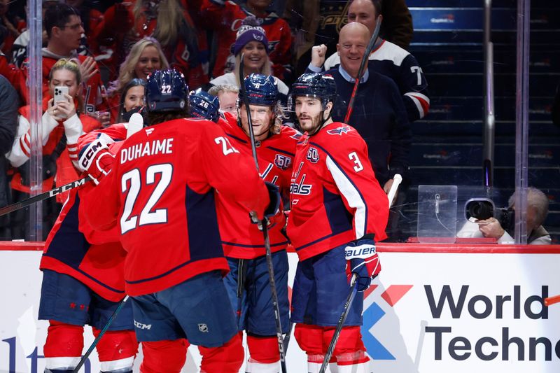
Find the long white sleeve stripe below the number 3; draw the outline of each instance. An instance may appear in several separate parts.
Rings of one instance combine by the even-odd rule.
[[[344,174],[342,169],[334,160],[327,155],[327,169],[330,171],[332,178],[335,180],[338,190],[342,193],[349,206],[356,209],[354,213],[354,229],[356,230],[356,239],[363,237],[366,232],[367,206],[360,192],[353,185],[352,181]]]

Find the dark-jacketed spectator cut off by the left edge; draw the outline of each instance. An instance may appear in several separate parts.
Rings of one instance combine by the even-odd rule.
[[[18,93],[6,78],[0,76],[0,207],[10,201],[8,183],[8,162],[6,156],[13,145],[15,132],[18,129]],[[0,216],[0,240],[11,239],[10,216]]]

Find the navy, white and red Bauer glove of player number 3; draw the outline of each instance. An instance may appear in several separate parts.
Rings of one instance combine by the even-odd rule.
[[[381,263],[375,251],[374,235],[365,234],[364,237],[351,241],[344,248],[344,253],[347,260],[346,272],[358,276],[358,291],[369,288],[372,278],[381,271]]]

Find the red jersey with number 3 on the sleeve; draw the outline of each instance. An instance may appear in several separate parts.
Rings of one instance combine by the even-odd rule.
[[[300,260],[364,234],[386,238],[388,199],[367,146],[349,125],[332,122],[297,144],[288,237]]]

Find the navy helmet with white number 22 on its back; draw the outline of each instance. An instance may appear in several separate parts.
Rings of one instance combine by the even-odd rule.
[[[146,83],[146,106],[150,112],[183,111],[188,101],[185,77],[174,69],[156,70]]]

